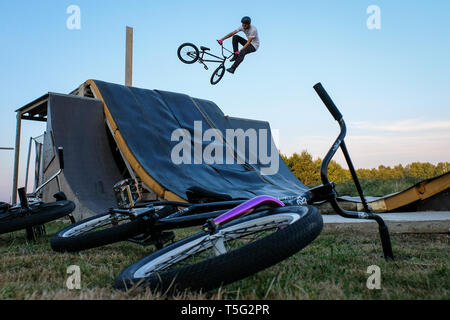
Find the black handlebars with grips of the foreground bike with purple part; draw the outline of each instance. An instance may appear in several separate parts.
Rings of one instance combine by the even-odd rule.
[[[361,188],[361,184],[359,183],[358,176],[356,174],[356,170],[353,166],[352,160],[350,158],[350,154],[348,152],[347,146],[345,145],[344,138],[347,134],[347,128],[344,122],[344,118],[339,111],[339,109],[334,104],[333,100],[330,98],[328,93],[325,91],[321,83],[318,83],[314,86],[314,89],[316,90],[317,94],[319,95],[322,102],[325,104],[327,109],[330,111],[330,113],[333,115],[334,119],[339,123],[339,126],[341,128],[341,132],[334,142],[331,149],[328,151],[327,155],[322,161],[322,165],[320,168],[320,176],[322,179],[322,183],[327,186],[331,185],[334,188],[334,184],[330,183],[328,179],[328,164],[330,163],[331,159],[336,154],[336,151],[338,148],[341,148],[345,160],[348,164],[350,173],[352,175],[353,181],[355,183],[356,189],[358,190],[359,197],[361,198],[361,202],[364,207],[365,212],[353,212],[353,211],[346,211],[342,209],[337,200],[336,200],[336,193],[334,192],[334,195],[330,197],[328,200],[333,207],[333,209],[342,217],[344,218],[353,218],[353,219],[369,219],[369,220],[375,220],[378,223],[378,229],[379,234],[381,238],[381,245],[383,247],[383,254],[385,259],[392,259],[394,260],[394,253],[392,252],[392,245],[391,245],[391,239],[389,236],[389,230],[386,226],[386,223],[384,220],[379,216],[374,214],[371,209],[369,208],[369,205],[366,201],[366,198],[364,197],[363,190]]]

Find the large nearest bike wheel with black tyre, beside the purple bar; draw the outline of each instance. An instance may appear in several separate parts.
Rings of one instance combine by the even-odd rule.
[[[135,285],[153,291],[208,291],[295,254],[322,231],[319,211],[310,206],[265,210],[180,240],[123,270],[115,288]]]

